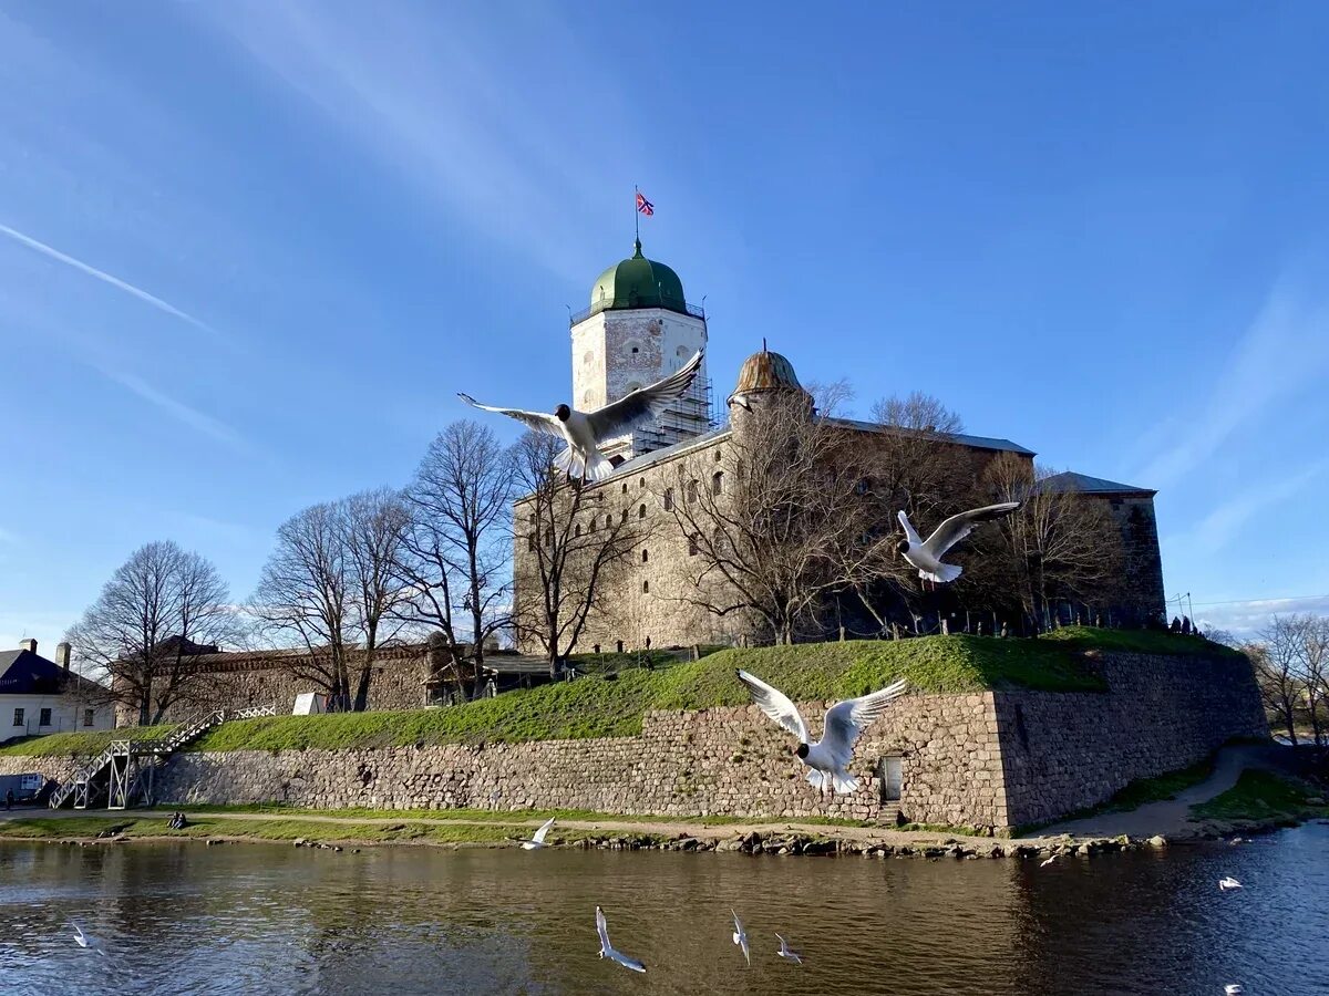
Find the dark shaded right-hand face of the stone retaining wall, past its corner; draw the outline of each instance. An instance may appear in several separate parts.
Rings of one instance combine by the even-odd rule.
[[[995,695],[1011,826],[1096,805],[1235,737],[1269,736],[1245,657],[1111,655],[1096,668],[1111,693]]]

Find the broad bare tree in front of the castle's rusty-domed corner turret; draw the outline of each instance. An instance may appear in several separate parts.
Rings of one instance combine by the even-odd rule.
[[[788,390],[742,413],[720,463],[711,450],[679,459],[661,495],[694,558],[678,598],[760,619],[777,643],[820,631],[827,602],[878,576],[890,547],[863,498],[860,453],[856,433]]]

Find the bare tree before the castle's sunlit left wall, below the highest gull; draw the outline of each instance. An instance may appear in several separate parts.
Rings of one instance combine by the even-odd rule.
[[[518,499],[514,542],[525,547],[514,576],[514,624],[520,639],[536,640],[557,673],[586,622],[606,606],[606,591],[650,537],[650,519],[618,507],[597,489],[569,482],[553,467],[563,444],[526,433],[513,446]]]

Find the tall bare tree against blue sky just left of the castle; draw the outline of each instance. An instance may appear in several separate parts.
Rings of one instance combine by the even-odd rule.
[[[472,687],[485,640],[508,624],[512,490],[512,453],[488,426],[464,420],[429,444],[404,495],[412,523],[399,570],[415,595],[403,614],[440,631],[455,659],[462,656],[457,633],[466,631]]]

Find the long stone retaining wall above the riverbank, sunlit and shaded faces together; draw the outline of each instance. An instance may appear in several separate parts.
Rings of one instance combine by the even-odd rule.
[[[1136,778],[1188,766],[1235,737],[1268,736],[1239,657],[1103,655],[1108,692],[910,695],[855,752],[857,793],[821,798],[792,738],[756,706],[650,713],[639,737],[364,750],[177,754],[163,802],[338,809],[589,809],[680,817],[898,818],[990,829],[1042,823]],[[801,706],[820,730],[824,703]],[[900,757],[898,803],[877,765]],[[68,758],[0,757],[0,773],[65,778]]]

